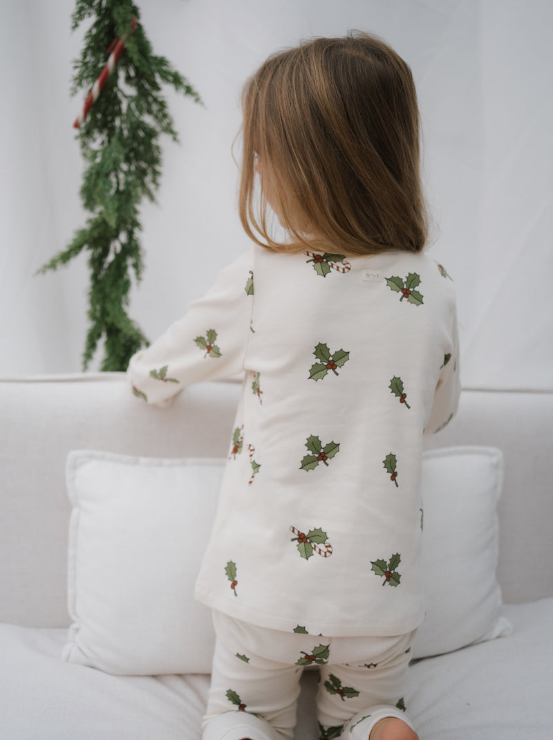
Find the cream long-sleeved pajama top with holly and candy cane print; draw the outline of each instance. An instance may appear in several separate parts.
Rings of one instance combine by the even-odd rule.
[[[254,246],[128,374],[163,406],[242,371],[197,599],[288,632],[413,630],[423,432],[449,421],[460,388],[451,278],[425,252]]]

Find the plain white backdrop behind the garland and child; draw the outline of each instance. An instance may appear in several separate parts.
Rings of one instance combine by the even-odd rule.
[[[231,144],[245,78],[310,36],[379,33],[413,69],[432,253],[455,278],[464,386],[553,388],[553,3],[549,0],[138,0],[155,53],[205,107],[174,95],[146,273],[131,315],[151,339],[245,249]],[[81,368],[86,256],[33,273],[84,224],[69,98],[84,29],[73,0],[0,4],[0,374]],[[98,366],[96,362],[91,369]]]

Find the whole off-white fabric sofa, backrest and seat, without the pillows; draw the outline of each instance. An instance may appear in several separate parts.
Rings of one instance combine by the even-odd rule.
[[[224,459],[238,387],[190,386],[157,409],[133,398],[121,374],[0,382],[0,739],[199,739],[206,673],[121,676],[61,659],[65,465],[75,449]],[[553,738],[552,443],[553,393],[494,389],[465,389],[458,416],[427,442],[503,451],[497,574],[512,633],[413,661],[404,700],[421,740]],[[489,576],[474,571],[475,586]],[[186,639],[180,649],[194,653]],[[319,736],[316,678],[302,678],[299,740]]]

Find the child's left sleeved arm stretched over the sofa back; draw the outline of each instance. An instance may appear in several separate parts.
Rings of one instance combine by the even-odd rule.
[[[242,371],[251,334],[251,262],[251,253],[243,255],[220,272],[182,319],[131,357],[127,376],[135,395],[167,406],[189,383]]]

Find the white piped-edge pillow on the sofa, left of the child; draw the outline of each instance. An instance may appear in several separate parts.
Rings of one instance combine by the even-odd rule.
[[[224,465],[69,453],[65,660],[116,675],[211,671],[211,613],[194,582]]]

